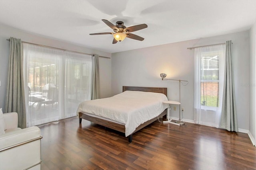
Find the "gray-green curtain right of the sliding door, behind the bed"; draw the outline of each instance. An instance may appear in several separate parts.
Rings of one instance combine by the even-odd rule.
[[[94,55],[92,71],[92,100],[100,98],[99,55]]]

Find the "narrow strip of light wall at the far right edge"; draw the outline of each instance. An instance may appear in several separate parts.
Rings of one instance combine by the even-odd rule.
[[[250,29],[251,39],[251,69],[250,69],[250,135],[252,141],[256,144],[256,22]]]

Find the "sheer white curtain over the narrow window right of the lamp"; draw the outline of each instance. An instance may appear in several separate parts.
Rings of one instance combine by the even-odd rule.
[[[224,83],[225,45],[195,48],[194,121],[219,127]]]

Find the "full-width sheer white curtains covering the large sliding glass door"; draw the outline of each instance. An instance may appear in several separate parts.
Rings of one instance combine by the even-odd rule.
[[[90,100],[90,55],[28,43],[23,53],[27,127],[75,116],[78,104]]]

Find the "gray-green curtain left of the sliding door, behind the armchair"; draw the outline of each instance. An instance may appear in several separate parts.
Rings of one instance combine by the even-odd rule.
[[[4,112],[17,112],[18,127],[26,128],[22,42],[20,39],[13,37],[10,37],[10,57]]]

